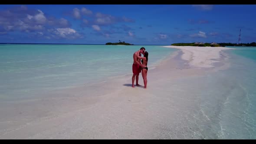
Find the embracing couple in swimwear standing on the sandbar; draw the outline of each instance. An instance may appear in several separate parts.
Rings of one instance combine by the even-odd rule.
[[[148,74],[148,52],[145,51],[146,49],[142,47],[140,50],[136,51],[133,54],[133,65],[132,65],[132,87],[134,88],[134,81],[136,78],[136,85],[138,84],[139,80],[139,74],[142,73],[142,78],[144,80],[144,88],[147,88],[147,74]],[[141,57],[141,54],[143,54],[144,57]],[[141,72],[142,71],[142,72]]]

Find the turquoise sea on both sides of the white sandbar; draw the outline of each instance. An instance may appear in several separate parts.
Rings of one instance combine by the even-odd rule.
[[[34,98],[37,93],[132,73],[132,55],[141,47],[0,45],[0,101]],[[144,47],[149,69],[178,50]],[[184,134],[181,138],[256,139],[256,47],[230,48],[235,49],[224,50],[229,56],[228,69],[188,78],[187,85],[182,80],[169,82],[183,86],[185,91],[178,91],[177,96],[196,102],[189,115],[182,114],[184,123],[177,126],[194,132],[179,129]]]

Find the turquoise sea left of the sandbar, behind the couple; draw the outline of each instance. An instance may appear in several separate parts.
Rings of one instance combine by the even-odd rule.
[[[0,99],[37,96],[132,73],[133,53],[145,47],[149,69],[177,49],[162,46],[60,44],[0,45]]]

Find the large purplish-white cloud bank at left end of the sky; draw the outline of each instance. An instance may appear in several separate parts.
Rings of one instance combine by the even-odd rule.
[[[56,28],[68,28],[70,23],[68,20],[61,18],[56,19],[54,16],[46,16],[42,10],[28,10],[26,6],[17,7],[10,10],[0,10],[0,28],[7,32],[21,31],[21,32],[33,32],[37,36],[56,36],[65,37],[69,32],[63,32],[63,29]],[[54,29],[49,32],[46,30]],[[33,35],[32,34],[32,35]],[[58,34],[58,35],[57,35]],[[75,32],[71,37],[79,37],[80,35]]]

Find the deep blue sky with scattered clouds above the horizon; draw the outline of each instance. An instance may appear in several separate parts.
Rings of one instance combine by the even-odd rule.
[[[0,5],[0,43],[256,42],[256,5]]]

